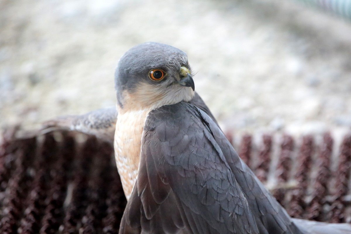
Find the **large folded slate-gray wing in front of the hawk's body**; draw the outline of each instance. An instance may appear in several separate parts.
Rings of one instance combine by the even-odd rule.
[[[217,124],[185,102],[145,123],[120,233],[302,233]]]

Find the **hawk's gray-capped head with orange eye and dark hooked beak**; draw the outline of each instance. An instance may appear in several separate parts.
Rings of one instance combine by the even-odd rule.
[[[186,54],[155,42],[134,46],[122,56],[115,88],[120,111],[190,101],[195,94]]]

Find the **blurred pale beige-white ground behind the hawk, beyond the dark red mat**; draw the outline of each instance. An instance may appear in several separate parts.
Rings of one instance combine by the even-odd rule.
[[[0,126],[33,129],[59,115],[115,105],[118,59],[157,41],[188,54],[196,91],[224,129],[348,131],[350,5],[0,0]]]

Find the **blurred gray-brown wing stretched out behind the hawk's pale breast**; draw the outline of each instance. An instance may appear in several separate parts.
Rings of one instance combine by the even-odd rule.
[[[96,135],[113,142],[117,120],[115,107],[98,109],[84,115],[62,116],[42,123],[43,129],[67,129]]]

